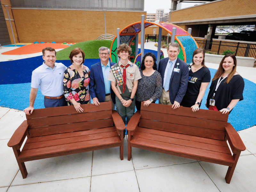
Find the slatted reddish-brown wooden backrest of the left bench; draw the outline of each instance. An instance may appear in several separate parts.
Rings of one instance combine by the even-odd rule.
[[[84,131],[113,126],[111,102],[81,105],[78,113],[73,105],[35,109],[27,117],[29,137]]]

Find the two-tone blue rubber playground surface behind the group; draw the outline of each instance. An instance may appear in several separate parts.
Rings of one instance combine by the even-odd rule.
[[[151,52],[156,54],[156,51]],[[84,64],[90,68],[92,64],[99,61],[100,59],[86,59]],[[42,62],[42,56],[1,62],[0,75],[2,78],[0,80],[0,106],[19,110],[28,107],[29,93],[31,89],[31,74],[35,68],[42,65]],[[71,65],[70,60],[58,60],[57,62],[61,62],[67,67]],[[211,77],[213,77],[216,70],[209,69]],[[247,129],[256,124],[256,84],[247,79],[244,79],[244,83],[244,100],[239,101],[236,104],[228,117],[228,122],[233,125],[236,131]],[[209,92],[210,84],[208,85],[202,100],[202,109],[207,109],[204,103]],[[158,103],[158,101],[156,101],[156,103]],[[42,95],[40,88],[38,89],[34,108],[44,108],[44,96]]]

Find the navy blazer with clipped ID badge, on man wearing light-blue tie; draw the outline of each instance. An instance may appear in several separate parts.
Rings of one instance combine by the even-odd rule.
[[[165,72],[168,60],[169,60],[169,57],[161,59],[158,65],[157,71],[161,74],[163,79],[162,86],[164,84],[164,72]],[[169,96],[172,104],[174,103],[174,101],[181,103],[187,91],[187,86],[188,86],[188,64],[185,63],[180,58],[177,58],[174,68],[177,68],[177,63],[180,64],[178,66],[178,69],[180,69],[180,72],[178,73],[178,72],[172,71],[172,76],[169,84]]]

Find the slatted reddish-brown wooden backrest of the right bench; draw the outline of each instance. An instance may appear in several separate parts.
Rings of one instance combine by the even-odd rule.
[[[225,126],[228,113],[151,103],[148,107],[141,103],[140,127],[146,127],[193,136],[225,140]]]

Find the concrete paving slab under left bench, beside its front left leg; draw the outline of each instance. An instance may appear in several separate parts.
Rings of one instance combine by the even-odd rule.
[[[12,185],[88,177],[92,173],[92,151],[29,161],[25,165],[27,178],[23,179],[19,171]]]

